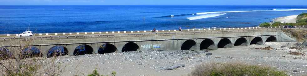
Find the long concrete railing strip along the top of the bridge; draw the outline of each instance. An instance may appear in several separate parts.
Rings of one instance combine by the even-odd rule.
[[[257,28],[257,27],[256,27]],[[186,31],[170,31],[170,32],[157,32],[157,33],[147,33],[138,31],[139,33],[114,33],[111,34],[102,33],[96,34],[95,32],[92,32],[91,34],[87,34],[86,32],[84,34],[80,33],[69,33],[66,35],[66,33],[63,33],[63,35],[41,35],[41,36],[33,36],[33,37],[0,37],[0,41],[26,41],[26,40],[54,40],[54,39],[79,39],[79,38],[118,38],[118,37],[145,37],[145,36],[168,36],[168,35],[193,35],[193,34],[230,34],[230,33],[248,33],[248,32],[272,32],[272,31],[282,31],[282,30],[306,30],[307,28],[263,28],[263,29],[252,29],[252,28],[233,28],[233,29],[221,29],[221,30],[186,30]],[[258,27],[260,28],[260,27]],[[229,30],[230,29],[230,30]]]

